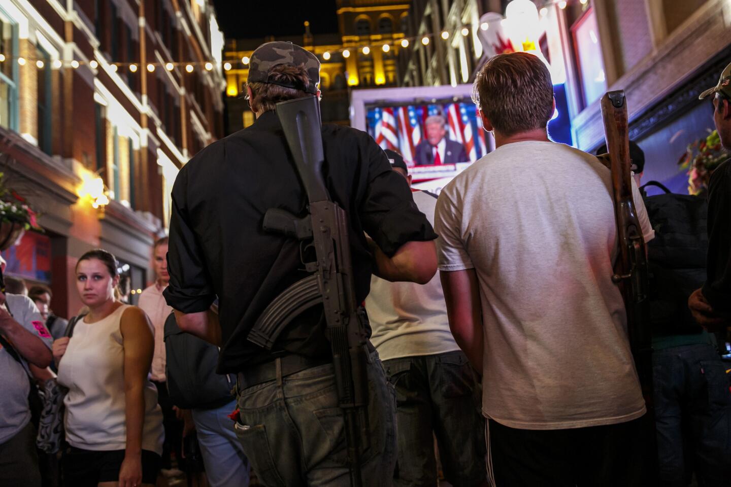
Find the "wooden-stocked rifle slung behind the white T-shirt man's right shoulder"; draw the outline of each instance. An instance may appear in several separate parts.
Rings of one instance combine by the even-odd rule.
[[[612,173],[614,216],[617,224],[619,253],[615,265],[614,283],[621,289],[627,315],[627,334],[635,358],[648,417],[647,440],[655,449],[655,415],[652,386],[652,331],[648,298],[648,262],[645,239],[632,198],[632,175],[629,158],[629,126],[624,91],[610,91],[602,96],[602,118],[607,152]],[[652,455],[650,458],[655,458]]]

